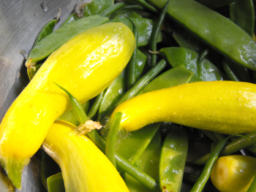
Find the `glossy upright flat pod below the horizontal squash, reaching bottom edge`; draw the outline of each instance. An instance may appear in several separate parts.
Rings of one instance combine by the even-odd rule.
[[[186,131],[172,125],[162,145],[159,162],[159,183],[162,191],[181,191],[187,150]]]

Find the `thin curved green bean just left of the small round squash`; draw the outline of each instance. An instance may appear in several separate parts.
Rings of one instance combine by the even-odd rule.
[[[200,174],[200,177],[198,178],[197,182],[195,183],[190,192],[200,192],[203,190],[204,186],[206,185],[206,182],[208,181],[208,178],[210,177],[211,170],[213,169],[214,163],[217,160],[219,153],[222,152],[222,150],[224,149],[225,145],[227,144],[231,137],[236,137],[236,135],[226,137],[216,145],[214,150],[209,155],[208,161],[206,162],[206,166],[204,166],[203,168],[203,172]]]

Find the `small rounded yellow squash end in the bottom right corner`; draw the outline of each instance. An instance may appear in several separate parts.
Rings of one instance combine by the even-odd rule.
[[[246,192],[255,174],[256,158],[229,155],[217,159],[211,181],[220,192]]]

